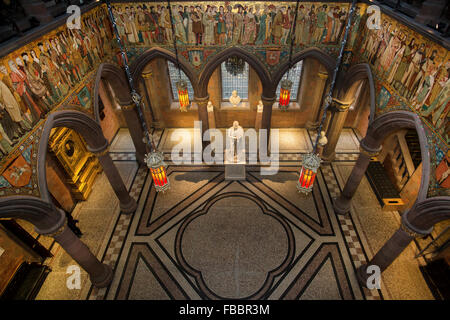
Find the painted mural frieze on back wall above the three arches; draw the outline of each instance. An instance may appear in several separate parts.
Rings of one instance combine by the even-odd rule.
[[[172,24],[166,2],[115,3],[113,13],[127,48],[162,46],[173,49],[198,72],[214,54],[238,46],[275,70],[289,55],[310,46],[332,56],[339,52],[349,3],[302,2],[297,22],[295,2],[171,2]],[[295,24],[295,30],[294,30]]]

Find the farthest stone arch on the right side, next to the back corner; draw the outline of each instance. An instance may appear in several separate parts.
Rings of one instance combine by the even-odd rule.
[[[339,92],[339,98],[345,101],[345,95],[348,90],[358,81],[367,80],[367,85],[369,87],[370,94],[370,115],[369,115],[369,125],[373,122],[375,118],[375,82],[373,80],[372,70],[367,63],[360,63],[351,66],[342,78],[342,81],[338,83],[337,90]]]

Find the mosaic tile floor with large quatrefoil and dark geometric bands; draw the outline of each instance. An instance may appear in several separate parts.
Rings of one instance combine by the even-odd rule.
[[[165,134],[155,132],[159,144]],[[358,284],[356,268],[398,224],[393,213],[381,211],[365,179],[351,214],[334,214],[331,199],[357,158],[357,139],[350,139],[353,152],[321,167],[308,198],[296,192],[296,153],[284,154],[276,175],[247,166],[246,180],[239,182],[226,181],[223,166],[169,165],[172,187],[158,194],[147,170],[137,169],[125,179],[138,201],[136,213],[124,215],[116,207],[101,245],[86,239],[113,267],[112,284],[97,289],[85,279],[77,295],[47,291],[38,298],[432,299],[408,252],[383,274],[381,290]],[[111,148],[119,171],[136,165],[130,153],[123,146]],[[355,210],[361,201],[364,213]],[[371,225],[383,224],[385,232],[377,238]],[[52,281],[62,286],[65,279],[60,274]]]

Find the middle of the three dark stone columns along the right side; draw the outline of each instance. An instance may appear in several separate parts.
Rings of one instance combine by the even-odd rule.
[[[361,180],[366,173],[369,166],[370,159],[378,155],[381,151],[381,146],[378,144],[370,144],[367,141],[370,139],[364,138],[360,143],[360,154],[358,160],[356,160],[355,166],[350,173],[350,176],[345,183],[344,190],[334,203],[334,211],[337,214],[346,214],[350,211],[351,201],[355,195],[356,189],[358,189]]]

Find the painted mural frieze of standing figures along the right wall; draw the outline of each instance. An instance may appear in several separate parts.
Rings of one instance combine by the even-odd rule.
[[[352,63],[371,66],[377,113],[407,110],[421,117],[431,149],[428,195],[449,195],[449,52],[385,14],[380,29],[368,29],[367,5],[360,7],[361,36],[354,43]]]

